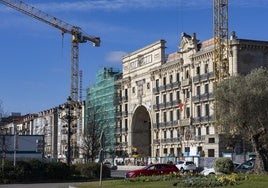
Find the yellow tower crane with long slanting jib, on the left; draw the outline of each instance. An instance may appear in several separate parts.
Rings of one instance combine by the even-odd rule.
[[[32,18],[40,20],[52,27],[61,30],[62,34],[69,33],[72,35],[71,46],[71,79],[70,79],[70,97],[73,101],[78,101],[79,92],[79,43],[86,43],[90,41],[93,46],[100,46],[100,38],[87,35],[78,26],[73,26],[58,18],[50,16],[49,14],[28,5],[22,1],[17,0],[0,0],[0,3],[11,7],[19,12],[22,12]]]

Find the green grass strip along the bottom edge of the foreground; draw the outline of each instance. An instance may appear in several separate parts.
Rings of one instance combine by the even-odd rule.
[[[179,188],[173,186],[178,180],[154,181],[154,182],[130,182],[125,180],[104,180],[100,185],[99,181],[78,183],[77,188]],[[224,186],[224,188],[264,188],[268,187],[268,175],[249,175],[237,185]],[[181,188],[181,187],[180,187]],[[222,188],[222,187],[219,187]]]

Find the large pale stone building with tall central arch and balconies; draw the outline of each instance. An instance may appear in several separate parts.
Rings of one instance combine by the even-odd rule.
[[[228,152],[213,125],[213,47],[213,39],[199,42],[196,34],[183,33],[178,51],[168,56],[159,40],[123,57],[116,129],[121,154],[163,161]],[[232,33],[229,48],[230,76],[268,66],[268,42]]]

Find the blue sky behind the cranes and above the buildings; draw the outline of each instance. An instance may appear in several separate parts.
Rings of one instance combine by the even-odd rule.
[[[121,69],[121,57],[159,39],[178,50],[181,32],[213,37],[213,0],[24,0],[86,33],[101,46],[80,44],[85,89],[96,71]],[[0,4],[0,101],[5,113],[38,113],[70,93],[70,35]],[[229,0],[229,31],[268,41],[268,0]],[[0,103],[1,104],[1,103]]]

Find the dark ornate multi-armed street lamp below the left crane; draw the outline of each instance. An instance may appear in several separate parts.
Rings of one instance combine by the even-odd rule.
[[[67,98],[67,103],[63,105],[63,107],[59,107],[60,110],[65,111],[65,115],[61,118],[65,122],[67,122],[67,164],[71,163],[71,136],[74,134],[72,132],[72,123],[74,120],[77,120],[78,110],[80,109],[80,104],[77,101],[73,101],[71,97]],[[75,114],[77,113],[77,114]]]

